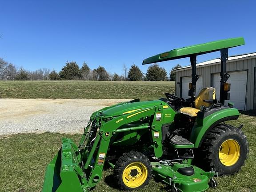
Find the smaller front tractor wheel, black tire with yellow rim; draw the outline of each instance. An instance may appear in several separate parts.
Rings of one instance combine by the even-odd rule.
[[[121,189],[134,190],[148,184],[152,165],[141,152],[124,153],[116,161],[114,175]]]

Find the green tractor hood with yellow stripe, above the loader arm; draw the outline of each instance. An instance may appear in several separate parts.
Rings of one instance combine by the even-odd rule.
[[[134,102],[134,103],[125,103],[121,105],[115,105],[103,111],[103,116],[120,116],[123,114],[128,114],[131,112],[135,112],[136,110],[140,110],[143,108],[150,108],[156,105],[166,104],[161,100],[149,100],[142,102]]]

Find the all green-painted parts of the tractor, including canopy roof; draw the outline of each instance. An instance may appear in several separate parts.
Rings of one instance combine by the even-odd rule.
[[[233,38],[174,49],[150,57],[143,64],[200,55],[242,44],[243,38]],[[108,153],[112,148],[121,148],[121,151],[114,151],[117,156],[125,148],[130,151],[142,150],[160,158],[163,155],[162,129],[166,125],[170,129],[175,128],[175,116],[176,111],[162,100],[132,100],[92,113],[78,147],[70,139],[62,140],[62,148],[46,168],[42,191],[88,192],[101,180],[104,164],[108,161],[106,159],[111,155]],[[212,124],[228,116],[239,116],[239,112],[235,108],[224,108],[204,119],[198,115],[190,135],[192,144],[170,143],[169,148],[198,148]],[[181,192],[201,192],[208,189],[208,181],[214,176],[214,172],[204,172],[191,165],[191,159],[179,162],[160,166],[159,163],[152,162],[153,175],[166,184],[175,184]],[[108,163],[114,167],[113,162]],[[178,171],[179,168],[191,166],[195,171],[192,176],[182,175]]]

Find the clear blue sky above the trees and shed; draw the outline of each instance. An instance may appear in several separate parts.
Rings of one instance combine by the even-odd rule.
[[[133,63],[173,48],[243,36],[229,55],[256,52],[255,1],[5,0],[0,4],[0,57],[28,70],[60,71],[85,61],[122,74]],[[219,57],[200,56],[198,61]],[[188,59],[160,63],[169,72]]]

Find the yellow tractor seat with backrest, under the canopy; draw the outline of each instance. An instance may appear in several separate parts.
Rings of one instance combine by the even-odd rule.
[[[199,94],[196,96],[195,108],[184,107],[184,108],[180,108],[178,112],[191,117],[195,117],[197,115],[197,112],[200,111],[200,106],[204,105],[205,107],[210,107],[211,104],[204,102],[204,100],[215,100],[216,99],[215,95],[216,95],[215,88],[212,88],[212,87],[202,88]]]

